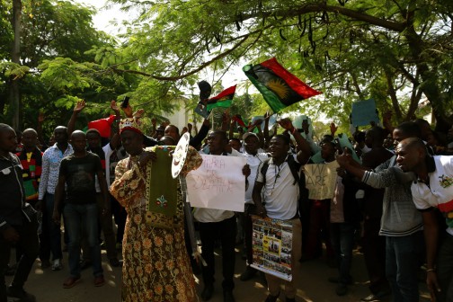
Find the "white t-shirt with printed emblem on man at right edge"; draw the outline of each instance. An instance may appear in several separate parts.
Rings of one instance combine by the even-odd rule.
[[[453,213],[453,156],[434,156],[436,170],[430,175],[430,187],[424,182],[413,182],[411,191],[417,209],[439,208],[442,214]],[[447,218],[451,226],[451,218]],[[449,223],[450,220],[450,223]],[[453,227],[447,232],[453,235]]]

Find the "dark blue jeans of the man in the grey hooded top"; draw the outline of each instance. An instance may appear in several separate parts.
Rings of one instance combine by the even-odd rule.
[[[419,301],[422,253],[422,231],[400,237],[386,236],[386,277],[395,302]]]

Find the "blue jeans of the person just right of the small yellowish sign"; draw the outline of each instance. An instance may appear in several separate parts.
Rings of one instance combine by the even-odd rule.
[[[331,223],[331,242],[338,263],[338,282],[351,282],[352,248],[356,227],[349,222]]]

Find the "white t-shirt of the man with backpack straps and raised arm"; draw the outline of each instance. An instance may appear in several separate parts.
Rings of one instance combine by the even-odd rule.
[[[297,161],[296,155],[289,156],[294,156],[294,160]],[[256,182],[264,182],[261,170],[262,164],[258,168]],[[298,173],[300,174],[300,171]],[[294,176],[286,160],[280,166],[273,164],[272,158],[269,160],[263,191],[264,207],[268,217],[288,220],[296,216],[298,213],[298,183],[294,183]]]

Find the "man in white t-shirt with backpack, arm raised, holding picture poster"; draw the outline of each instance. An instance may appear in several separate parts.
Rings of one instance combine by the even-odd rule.
[[[301,177],[299,171],[302,163],[306,163],[310,156],[310,148],[306,140],[292,126],[291,121],[280,120],[279,123],[281,127],[293,134],[299,151],[297,155],[289,154],[290,139],[285,135],[276,135],[271,138],[271,159],[263,162],[258,169],[258,176],[253,187],[253,202],[257,214],[262,218],[276,218],[292,223],[291,259],[295,261],[291,262],[291,281],[283,281],[271,274],[266,274],[269,289],[266,302],[277,301],[280,296],[281,282],[285,283],[286,301],[295,301],[298,259],[302,253],[302,227],[299,219],[298,200],[299,194],[304,193],[301,188],[305,188],[305,178],[299,179]],[[265,164],[268,165],[267,168],[262,169]],[[295,174],[293,174],[294,167],[297,167]],[[302,182],[303,185],[299,186],[299,182]]]

